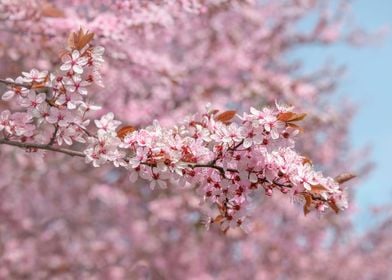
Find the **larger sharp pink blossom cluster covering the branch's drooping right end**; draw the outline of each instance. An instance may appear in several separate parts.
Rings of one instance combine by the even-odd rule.
[[[291,110],[279,105],[262,111],[251,108],[250,114],[237,115],[237,122],[231,111],[210,110],[174,128],[154,122],[130,131],[119,145],[120,138],[113,134],[118,122],[110,113],[96,122],[101,138],[86,151],[87,161],[98,165],[112,160],[131,170],[131,180],[140,176],[152,188],[165,188],[170,181],[198,187],[204,200],[220,211],[209,222],[223,230],[243,225],[257,189],[300,197],[305,214],[329,207],[338,212],[346,207],[338,182],[316,172],[293,150],[293,136],[300,129],[294,123],[304,115]]]

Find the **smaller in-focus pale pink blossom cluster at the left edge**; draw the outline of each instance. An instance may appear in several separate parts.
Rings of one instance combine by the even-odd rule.
[[[82,30],[71,34],[58,73],[32,69],[5,81],[9,89],[2,99],[26,110],[1,113],[0,131],[5,130],[7,140],[50,145],[86,142],[90,122],[86,113],[99,108],[86,102],[86,87],[93,82],[102,84],[98,69],[104,52],[102,47],[91,46],[91,39],[91,34]]]

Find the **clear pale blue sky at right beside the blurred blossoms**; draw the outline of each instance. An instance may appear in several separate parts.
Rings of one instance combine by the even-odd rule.
[[[352,9],[354,20],[366,30],[392,28],[392,0],[356,0]],[[368,208],[392,202],[392,32],[376,45],[315,47],[297,55],[310,69],[330,58],[347,66],[338,93],[359,107],[351,126],[352,144],[358,148],[370,144],[375,163],[356,196],[359,209],[355,223],[359,230],[365,229],[374,224]]]

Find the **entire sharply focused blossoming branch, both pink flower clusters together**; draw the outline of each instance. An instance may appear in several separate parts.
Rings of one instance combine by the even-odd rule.
[[[96,133],[89,132],[87,112],[97,106],[86,102],[86,88],[101,84],[98,69],[104,52],[89,44],[92,38],[82,30],[71,34],[58,74],[33,69],[7,80],[3,99],[15,98],[25,112],[1,113],[3,144],[46,144],[44,148],[53,150],[53,145],[86,143],[82,156],[94,167],[111,162],[129,169],[131,180],[140,176],[150,181],[151,188],[166,188],[170,182],[196,187],[219,210],[209,223],[224,231],[243,226],[258,189],[269,196],[280,191],[299,197],[305,214],[346,207],[339,182],[316,172],[310,160],[294,151],[293,138],[301,130],[296,122],[305,114],[292,107],[276,104],[242,115],[207,109],[172,128],[154,121],[138,130],[119,129],[121,122],[107,113],[95,120]]]

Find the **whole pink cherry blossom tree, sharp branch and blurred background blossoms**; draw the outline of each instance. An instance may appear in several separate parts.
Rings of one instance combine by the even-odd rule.
[[[1,277],[386,279],[339,70],[287,59],[355,41],[321,2],[2,1]]]

